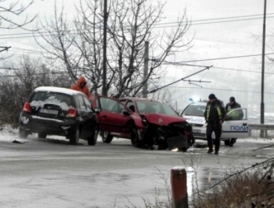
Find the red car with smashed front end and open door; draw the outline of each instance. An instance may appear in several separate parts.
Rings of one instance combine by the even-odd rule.
[[[126,138],[134,147],[181,151],[195,142],[192,126],[166,103],[149,98],[98,96],[92,104],[102,142]]]

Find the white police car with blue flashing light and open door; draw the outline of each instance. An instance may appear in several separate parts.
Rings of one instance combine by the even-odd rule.
[[[206,100],[199,100],[197,102],[190,103],[180,113],[180,115],[188,120],[188,123],[192,125],[192,132],[197,140],[206,140],[206,119],[204,119],[204,112],[206,110]],[[241,112],[242,118],[235,117],[235,111]],[[245,108],[237,108],[231,110],[225,117],[222,124],[221,140],[225,145],[233,144],[236,140],[232,138],[248,138],[248,113]],[[240,113],[239,113],[240,114]],[[213,133],[213,138],[215,135]]]

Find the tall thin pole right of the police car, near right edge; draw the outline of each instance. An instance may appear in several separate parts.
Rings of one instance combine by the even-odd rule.
[[[261,54],[261,124],[264,124],[264,57],[266,47],[266,0],[264,0],[263,52]],[[261,138],[264,131],[261,130]]]

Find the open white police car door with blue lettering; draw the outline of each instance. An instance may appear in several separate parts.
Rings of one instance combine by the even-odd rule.
[[[237,108],[227,113],[222,124],[222,138],[248,138],[247,112],[246,108]]]

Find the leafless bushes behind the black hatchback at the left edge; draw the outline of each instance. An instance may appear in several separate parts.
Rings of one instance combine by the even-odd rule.
[[[70,87],[67,71],[54,71],[25,54],[14,74],[0,76],[0,123],[17,124],[20,111],[31,92],[40,86]]]

